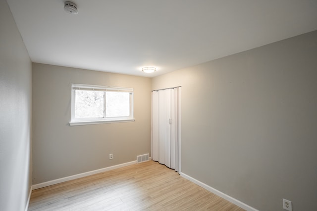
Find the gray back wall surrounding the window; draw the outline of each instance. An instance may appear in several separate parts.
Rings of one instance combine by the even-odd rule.
[[[71,83],[134,88],[135,122],[70,127]],[[32,108],[33,184],[150,153],[150,78],[33,63]]]

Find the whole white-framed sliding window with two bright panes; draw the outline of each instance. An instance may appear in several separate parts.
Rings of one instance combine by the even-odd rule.
[[[70,126],[133,121],[133,88],[71,84]]]

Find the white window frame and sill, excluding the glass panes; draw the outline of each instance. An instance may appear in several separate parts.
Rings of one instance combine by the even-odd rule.
[[[104,117],[103,118],[75,118],[75,106],[76,106],[76,90],[87,91],[104,91]],[[128,117],[106,117],[106,91],[119,91],[129,92],[129,116]],[[89,85],[89,84],[71,84],[71,121],[70,126],[80,125],[94,125],[105,123],[125,123],[134,122],[133,117],[133,88],[115,87],[115,86],[101,86],[101,85]]]

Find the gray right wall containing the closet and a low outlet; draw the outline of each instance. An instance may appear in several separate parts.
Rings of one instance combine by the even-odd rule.
[[[317,31],[153,79],[182,86],[182,172],[261,211],[317,210]]]

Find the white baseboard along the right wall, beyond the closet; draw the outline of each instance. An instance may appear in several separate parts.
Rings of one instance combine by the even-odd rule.
[[[209,185],[207,185],[207,184],[205,184],[197,179],[194,179],[193,177],[188,176],[187,174],[185,174],[183,172],[180,172],[180,175],[182,177],[184,177],[185,179],[188,179],[189,181],[192,181],[195,184],[205,188],[206,190],[210,191],[211,193],[214,193],[215,195],[220,196],[221,198],[239,206],[240,208],[245,209],[246,211],[258,211],[257,209],[255,209],[247,204],[244,204],[243,202],[240,202],[239,200],[237,200],[231,196],[228,196],[227,194],[224,194],[221,191],[218,191],[217,189],[214,189],[213,187],[211,187],[211,186],[209,186]]]

